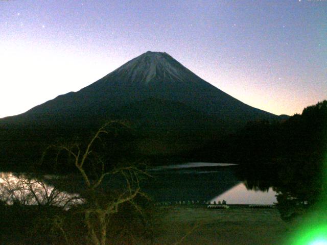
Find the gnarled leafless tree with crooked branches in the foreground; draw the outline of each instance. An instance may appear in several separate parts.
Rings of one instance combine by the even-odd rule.
[[[57,149],[57,159],[62,152],[66,152],[68,158],[72,158],[72,163],[83,179],[85,188],[82,193],[84,204],[81,212],[84,213],[84,222],[88,230],[87,237],[94,245],[107,244],[110,217],[119,211],[122,204],[130,203],[140,210],[134,199],[138,195],[145,196],[139,186],[139,178],[147,175],[144,170],[133,165],[109,168],[108,159],[96,150],[96,144],[104,145],[103,138],[110,133],[108,128],[114,123],[116,121],[107,122],[84,145],[74,142],[50,146],[50,148]],[[121,188],[101,187],[105,179],[112,181],[118,175],[124,177],[124,184],[121,184]],[[106,183],[110,184],[110,182]]]

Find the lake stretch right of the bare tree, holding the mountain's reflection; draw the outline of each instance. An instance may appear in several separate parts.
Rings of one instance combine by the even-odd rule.
[[[239,166],[228,163],[185,163],[150,170],[155,178],[144,186],[156,201],[227,201],[227,204],[274,204],[277,194],[251,190],[236,174]]]

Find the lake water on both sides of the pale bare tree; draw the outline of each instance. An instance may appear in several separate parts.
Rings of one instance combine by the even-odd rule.
[[[227,163],[185,163],[153,167],[153,178],[143,182],[143,191],[154,202],[218,201],[229,204],[273,204],[276,192],[254,191],[246,188],[236,172],[239,167]],[[65,182],[65,189],[61,182]],[[26,205],[51,204],[63,206],[78,199],[78,180],[67,184],[67,179],[56,176],[28,177],[22,174],[1,173],[0,200],[7,204],[19,201]],[[67,189],[68,186],[68,189]],[[70,187],[69,187],[70,186]],[[73,186],[75,186],[73,188]],[[215,198],[216,197],[216,198]]]

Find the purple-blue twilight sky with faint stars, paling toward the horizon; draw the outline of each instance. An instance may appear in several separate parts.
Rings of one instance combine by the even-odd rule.
[[[0,0],[0,117],[146,51],[275,114],[327,99],[327,0]]]

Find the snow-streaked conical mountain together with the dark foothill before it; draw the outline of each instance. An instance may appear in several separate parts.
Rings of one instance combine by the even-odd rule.
[[[167,53],[146,52],[89,86],[59,95],[1,124],[89,127],[126,119],[141,131],[232,131],[278,119],[207,83]]]

